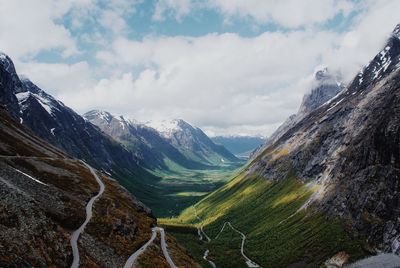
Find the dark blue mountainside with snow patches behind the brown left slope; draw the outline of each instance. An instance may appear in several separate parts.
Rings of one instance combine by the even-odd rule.
[[[140,155],[128,151],[29,79],[19,78],[12,60],[4,54],[0,54],[0,82],[0,104],[37,136],[111,174],[143,202],[158,195],[152,185],[160,179],[142,167]]]

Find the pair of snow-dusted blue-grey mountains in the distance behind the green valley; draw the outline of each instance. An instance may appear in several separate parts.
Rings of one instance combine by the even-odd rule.
[[[183,120],[139,123],[105,111],[90,111],[86,120],[134,150],[150,168],[168,169],[166,160],[184,168],[205,168],[237,159],[215,145],[201,129]]]

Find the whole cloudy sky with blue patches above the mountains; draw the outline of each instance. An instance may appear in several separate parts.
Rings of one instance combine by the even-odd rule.
[[[399,10],[399,0],[0,0],[0,51],[80,114],[268,136],[321,66],[351,81]]]

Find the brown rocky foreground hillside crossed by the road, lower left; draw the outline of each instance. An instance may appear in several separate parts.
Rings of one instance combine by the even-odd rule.
[[[0,108],[0,266],[70,266],[72,234],[99,192],[95,174],[105,188],[78,240],[80,264],[122,267],[157,224],[150,210],[115,180],[38,138]],[[177,265],[195,267],[169,236],[168,246]],[[161,256],[153,249],[140,261],[168,267]]]

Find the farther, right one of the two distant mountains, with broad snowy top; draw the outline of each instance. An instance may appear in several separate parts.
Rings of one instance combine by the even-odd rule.
[[[181,119],[146,124],[156,129],[189,159],[209,165],[238,161],[225,147],[213,143],[200,128],[193,127]]]

